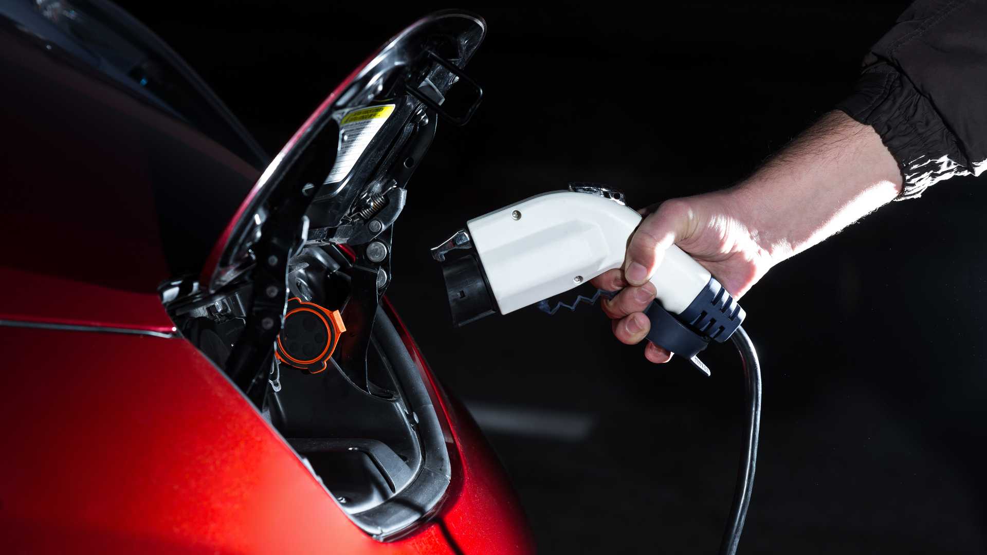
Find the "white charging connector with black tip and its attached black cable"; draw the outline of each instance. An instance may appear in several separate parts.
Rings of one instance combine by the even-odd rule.
[[[442,263],[453,323],[513,312],[621,268],[641,219],[624,204],[623,194],[593,184],[571,184],[569,191],[527,198],[471,219],[432,249],[432,258]],[[707,375],[710,370],[697,355],[711,342],[732,337],[743,360],[746,441],[720,547],[721,554],[733,554],[754,482],[761,418],[757,353],[740,327],[743,309],[678,247],[665,252],[651,283],[657,294],[645,310],[651,322],[648,341],[688,358]]]

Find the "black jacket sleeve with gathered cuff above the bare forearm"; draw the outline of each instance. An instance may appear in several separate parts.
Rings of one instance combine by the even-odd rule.
[[[987,3],[912,4],[837,106],[872,125],[901,168],[899,198],[987,170]]]

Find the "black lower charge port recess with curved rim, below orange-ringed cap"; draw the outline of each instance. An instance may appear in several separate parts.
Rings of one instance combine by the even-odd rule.
[[[336,277],[313,290],[348,290],[348,262],[341,262]],[[268,392],[266,408],[342,510],[367,533],[387,539],[436,507],[451,466],[418,365],[380,308],[366,360],[371,378],[392,397],[360,390],[332,364],[317,374],[282,364],[281,388]]]

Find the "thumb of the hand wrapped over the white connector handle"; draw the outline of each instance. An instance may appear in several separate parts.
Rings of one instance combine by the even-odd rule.
[[[642,285],[654,275],[668,247],[687,237],[694,214],[681,198],[665,200],[645,216],[631,237],[624,260],[624,278]]]

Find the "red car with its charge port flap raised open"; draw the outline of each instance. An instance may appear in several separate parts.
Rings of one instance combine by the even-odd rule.
[[[270,159],[114,5],[0,6],[5,552],[532,550],[384,297],[485,33],[419,20]]]

